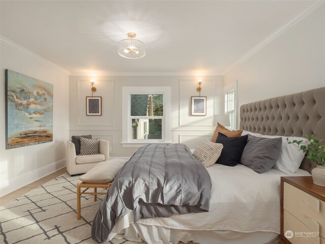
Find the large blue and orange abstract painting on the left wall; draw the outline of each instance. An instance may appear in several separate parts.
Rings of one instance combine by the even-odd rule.
[[[6,149],[53,141],[53,84],[6,70]]]

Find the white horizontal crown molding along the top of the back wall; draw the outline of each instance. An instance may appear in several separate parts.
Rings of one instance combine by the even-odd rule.
[[[102,73],[102,72],[72,72],[70,76],[223,76],[221,73],[204,73],[198,75],[190,72],[122,72],[122,73]]]

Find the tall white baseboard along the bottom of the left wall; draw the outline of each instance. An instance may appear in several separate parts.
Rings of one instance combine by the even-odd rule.
[[[44,176],[49,175],[63,167],[66,167],[66,159],[62,159],[42,168],[17,176],[13,179],[1,182],[0,197],[16,191],[17,189],[22,188],[40,178],[43,178]]]

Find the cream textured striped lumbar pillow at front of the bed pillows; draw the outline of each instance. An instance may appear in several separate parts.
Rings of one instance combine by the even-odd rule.
[[[201,162],[204,167],[210,167],[220,157],[223,145],[209,140],[201,142],[194,150],[193,156]]]

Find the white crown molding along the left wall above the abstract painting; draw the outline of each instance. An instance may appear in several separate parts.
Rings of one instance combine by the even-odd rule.
[[[4,37],[4,36],[1,36],[0,35],[0,42],[8,47],[11,47],[12,49],[15,49],[16,51],[19,51],[29,57],[32,57],[36,60],[38,60],[38,62],[42,63],[42,64],[45,64],[47,66],[50,66],[50,67],[53,67],[57,70],[59,70],[60,72],[64,73],[64,74],[67,74],[67,75],[70,75],[70,71],[66,70],[66,69],[63,69],[62,67],[52,63],[51,61],[45,59],[44,57],[41,57],[40,55],[28,50],[27,48],[24,48],[22,46],[20,46],[19,44],[9,40],[8,38]]]

